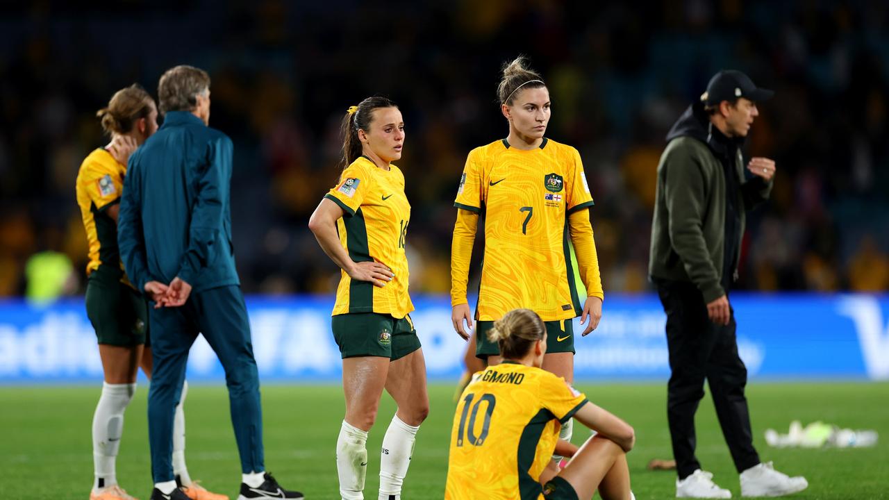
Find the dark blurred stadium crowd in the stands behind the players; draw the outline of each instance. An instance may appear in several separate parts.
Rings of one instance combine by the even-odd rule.
[[[74,181],[80,161],[107,143],[95,112],[133,82],[156,94],[160,73],[180,63],[209,70],[210,124],[235,143],[233,232],[245,293],[333,291],[339,272],[308,215],[339,177],[340,118],[372,93],[404,112],[412,291],[445,293],[462,166],[504,129],[497,69],[517,53],[547,78],[549,137],[581,150],[606,294],[651,289],[665,135],[727,68],[776,91],[746,149],[774,158],[778,173],[772,200],[749,219],[738,288],[889,288],[889,5],[646,8],[643,16],[631,4],[501,0],[0,7],[0,296],[26,294],[52,279],[39,276],[47,269],[70,275],[63,293],[83,293]]]

